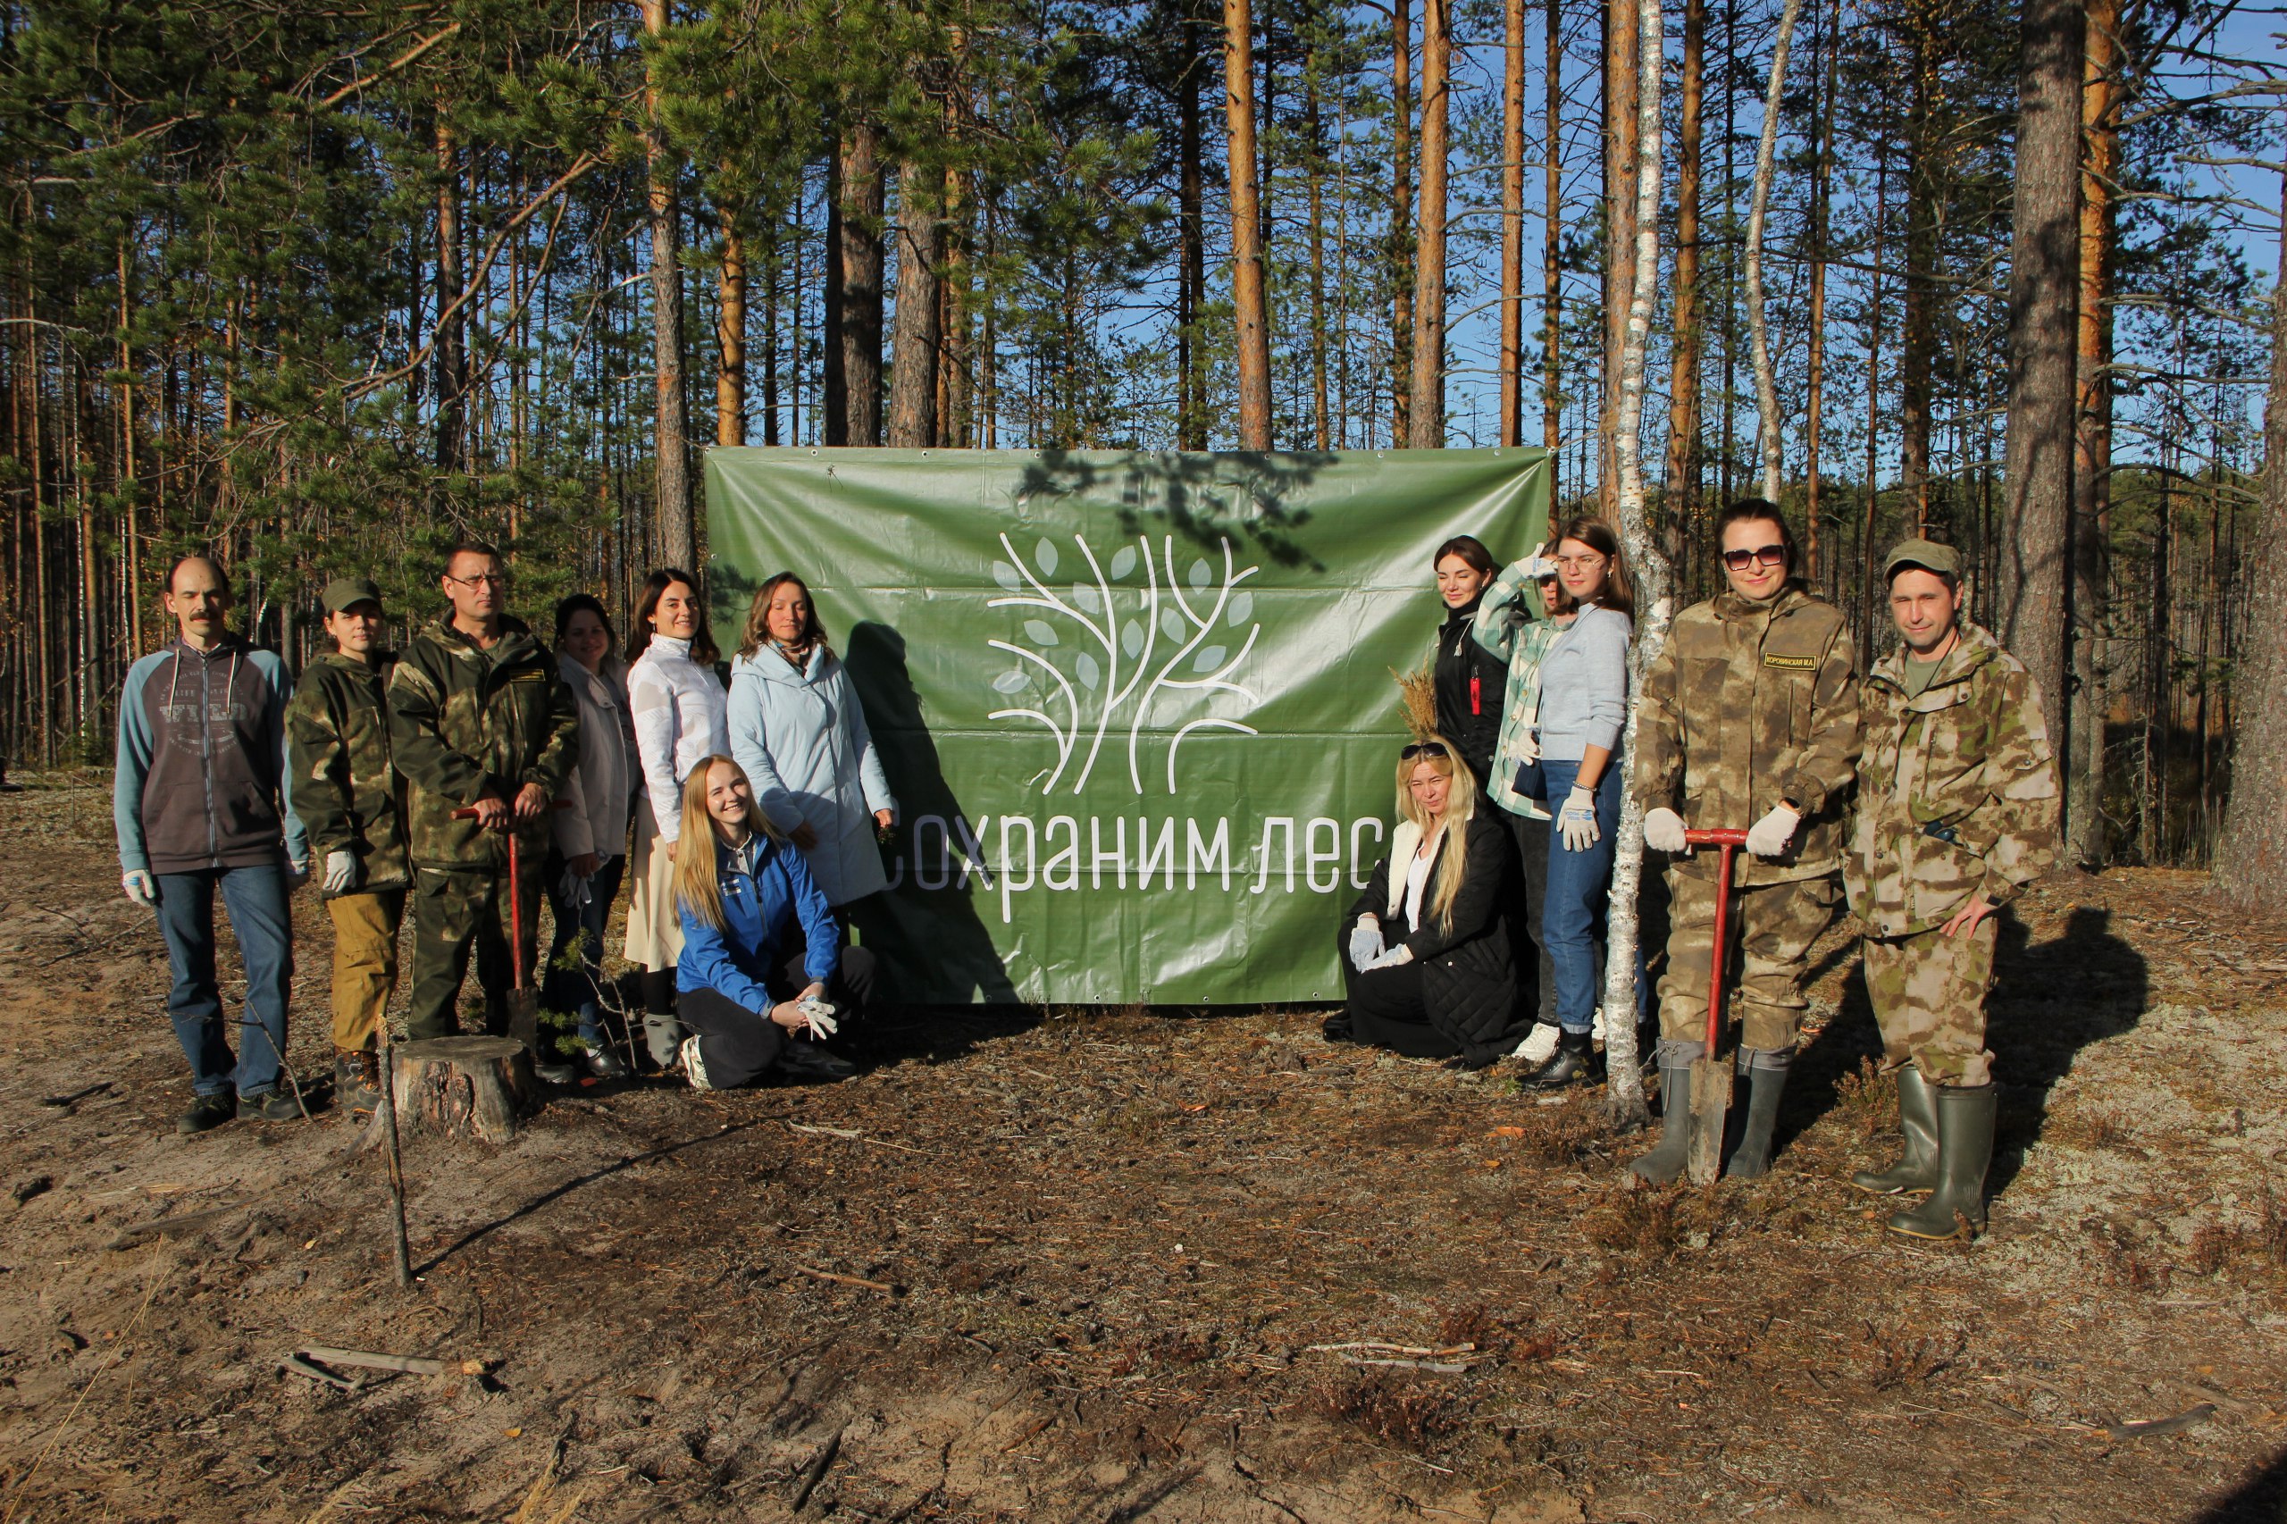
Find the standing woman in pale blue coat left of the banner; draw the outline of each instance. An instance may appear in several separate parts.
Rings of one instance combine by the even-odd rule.
[[[730,755],[755,805],[803,849],[835,918],[890,886],[880,835],[897,799],[848,670],[826,643],[810,586],[780,572],[755,593],[730,666]]]

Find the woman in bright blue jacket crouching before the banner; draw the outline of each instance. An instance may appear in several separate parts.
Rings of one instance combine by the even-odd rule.
[[[844,947],[803,854],[755,808],[730,757],[707,757],[684,783],[684,851],[675,899],[684,952],[675,966],[684,1073],[693,1089],[730,1089],[771,1073],[846,1080],[855,1064],[826,1048],[862,1021],[874,954]],[[691,842],[714,851],[691,851]]]

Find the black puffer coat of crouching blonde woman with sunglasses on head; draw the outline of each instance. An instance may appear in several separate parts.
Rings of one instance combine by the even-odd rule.
[[[1441,872],[1445,872],[1443,847],[1429,867],[1423,902],[1434,897]],[[1374,863],[1365,897],[1342,918],[1338,940],[1345,947],[1361,915],[1377,915],[1390,929],[1404,918],[1404,904],[1390,913],[1390,858]],[[1397,892],[1402,899],[1404,874],[1397,874]],[[1498,810],[1480,803],[1468,821],[1468,876],[1452,897],[1448,924],[1441,929],[1432,922],[1404,938],[1413,961],[1423,966],[1429,1025],[1459,1043],[1461,1057],[1471,1064],[1493,1062],[1523,1041],[1530,1027],[1530,1016],[1516,1009],[1516,959],[1509,936],[1509,906],[1523,904],[1521,892],[1509,831],[1500,824]]]

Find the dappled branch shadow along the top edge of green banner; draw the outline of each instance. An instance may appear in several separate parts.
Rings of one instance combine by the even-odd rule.
[[[1310,510],[1288,508],[1285,499],[1333,462],[1326,451],[1127,451],[1116,462],[1095,453],[1041,451],[1025,467],[1018,492],[1070,497],[1118,487],[1125,533],[1169,529],[1205,547],[1233,535],[1278,565],[1324,572],[1292,535],[1310,522]],[[1246,506],[1233,510],[1242,501]]]

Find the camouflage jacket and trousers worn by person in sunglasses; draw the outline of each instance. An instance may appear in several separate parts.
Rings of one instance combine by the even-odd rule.
[[[1727,590],[1686,609],[1644,673],[1635,748],[1635,801],[1676,810],[1695,831],[1752,826],[1782,799],[1802,815],[1786,856],[1734,858],[1740,1048],[1784,1057],[1802,1023],[1804,957],[1841,899],[1834,872],[1859,751],[1850,625],[1793,581],[1766,604]],[[1702,849],[1667,867],[1667,1043],[1706,1037],[1715,863]]]

